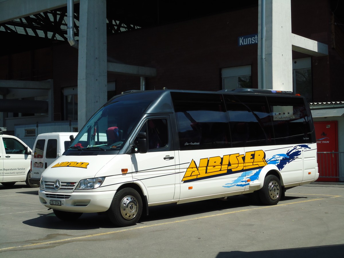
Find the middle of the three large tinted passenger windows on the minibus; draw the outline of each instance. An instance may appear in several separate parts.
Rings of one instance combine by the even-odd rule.
[[[265,96],[224,95],[224,98],[233,147],[275,144]]]

